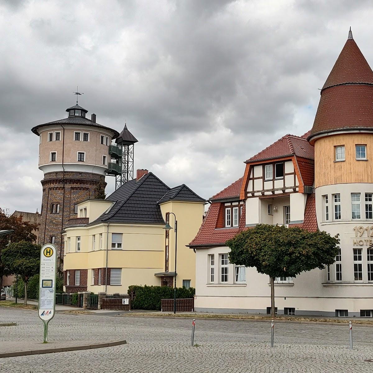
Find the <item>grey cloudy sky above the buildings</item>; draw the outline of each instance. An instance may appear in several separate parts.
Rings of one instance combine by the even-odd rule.
[[[30,129],[65,117],[77,84],[88,117],[127,121],[135,169],[210,197],[311,128],[350,25],[373,65],[372,18],[363,0],[1,1],[0,207],[40,211]]]

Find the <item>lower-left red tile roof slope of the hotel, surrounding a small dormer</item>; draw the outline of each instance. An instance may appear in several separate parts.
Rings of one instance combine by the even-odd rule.
[[[223,202],[211,203],[200,230],[189,246],[219,246],[225,244],[228,239],[233,238],[245,228],[245,204],[243,205],[239,226],[237,228],[216,228],[219,226],[219,212],[222,206],[224,206]]]

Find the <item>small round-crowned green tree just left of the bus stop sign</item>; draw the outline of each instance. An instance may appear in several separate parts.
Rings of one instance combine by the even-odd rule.
[[[18,273],[25,283],[25,300],[27,304],[28,280],[39,272],[40,245],[21,241],[10,244],[3,249],[3,263],[10,273]]]

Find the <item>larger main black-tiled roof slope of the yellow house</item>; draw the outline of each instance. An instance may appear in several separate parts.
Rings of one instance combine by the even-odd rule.
[[[102,214],[90,224],[98,222],[164,224],[157,201],[169,189],[151,172],[139,180],[128,181],[107,197],[110,201],[116,201],[109,213]]]

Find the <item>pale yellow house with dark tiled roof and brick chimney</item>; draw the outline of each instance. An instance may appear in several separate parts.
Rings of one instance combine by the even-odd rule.
[[[185,184],[169,188],[147,170],[106,200],[86,200],[63,232],[66,292],[126,294],[129,285],[195,287],[195,254],[186,247],[203,218],[205,200]]]

